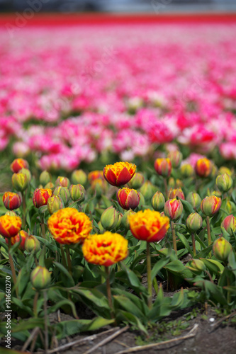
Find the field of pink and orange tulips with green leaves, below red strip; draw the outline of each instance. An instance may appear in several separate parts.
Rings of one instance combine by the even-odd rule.
[[[235,326],[235,33],[0,30],[2,353],[66,352],[79,335],[74,353],[105,353],[84,338],[102,331],[142,338],[107,353],[144,353],[196,309]]]

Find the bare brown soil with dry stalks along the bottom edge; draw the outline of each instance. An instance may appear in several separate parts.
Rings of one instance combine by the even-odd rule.
[[[193,315],[191,315],[193,314]],[[57,314],[50,315],[50,321],[57,321]],[[193,318],[190,318],[193,317]],[[62,321],[72,319],[71,316],[60,314]],[[64,346],[66,343],[74,343],[74,341],[81,340],[87,336],[98,334],[97,338],[91,338],[90,341],[85,343],[74,344],[71,348],[58,350],[55,353],[64,354],[85,354],[91,350],[93,354],[118,354],[120,351],[128,350],[135,346],[150,345],[150,343],[159,343],[169,341],[173,338],[180,338],[175,343],[163,343],[157,348],[145,348],[144,350],[136,351],[140,354],[235,354],[236,353],[236,312],[230,318],[225,319],[224,316],[218,316],[215,309],[208,306],[207,309],[186,309],[185,311],[173,312],[171,316],[164,319],[161,324],[157,324],[157,328],[152,328],[149,331],[149,336],[145,336],[139,331],[134,331],[128,328],[123,333],[120,333],[116,338],[113,338],[109,343],[106,343],[99,348],[95,348],[96,344],[108,338],[111,334],[118,331],[113,331],[111,326],[101,329],[101,331],[82,333],[73,338],[64,338],[56,347]],[[218,322],[220,321],[220,322]],[[185,324],[186,329],[179,331],[178,324]],[[176,325],[177,324],[177,325]],[[196,335],[192,338],[182,339],[183,336],[193,329],[194,325],[198,325]],[[166,327],[167,326],[167,327]],[[167,330],[159,333],[158,329],[166,327]],[[110,333],[105,333],[108,329]],[[178,330],[178,333],[176,332]],[[103,333],[104,332],[104,333]],[[17,343],[12,338],[12,348],[21,350],[23,343]],[[54,347],[55,348],[55,347]],[[1,350],[0,350],[1,351]],[[27,351],[27,350],[26,350]],[[38,354],[45,353],[44,350],[38,350]]]

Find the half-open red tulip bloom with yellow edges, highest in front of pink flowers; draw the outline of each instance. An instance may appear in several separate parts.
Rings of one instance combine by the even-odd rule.
[[[116,162],[113,165],[106,165],[103,169],[103,176],[111,185],[119,187],[128,183],[135,174],[135,164],[129,162]]]

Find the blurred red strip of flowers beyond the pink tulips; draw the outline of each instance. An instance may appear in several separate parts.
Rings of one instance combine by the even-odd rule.
[[[236,23],[236,13],[189,13],[189,14],[106,14],[106,13],[4,13],[0,25],[17,25],[16,19],[26,18],[26,25],[106,25],[151,23]]]

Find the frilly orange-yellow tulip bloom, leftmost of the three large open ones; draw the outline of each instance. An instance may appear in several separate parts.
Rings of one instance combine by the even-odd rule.
[[[66,207],[52,214],[47,225],[54,239],[60,244],[83,242],[92,229],[89,217],[72,207]]]

